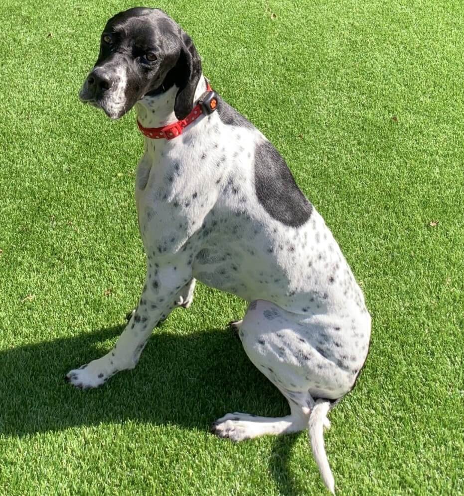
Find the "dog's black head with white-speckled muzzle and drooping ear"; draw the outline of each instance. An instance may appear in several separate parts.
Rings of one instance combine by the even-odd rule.
[[[193,108],[201,61],[191,38],[162,10],[136,7],[106,24],[100,54],[79,98],[119,119],[145,96],[178,88],[174,113]]]

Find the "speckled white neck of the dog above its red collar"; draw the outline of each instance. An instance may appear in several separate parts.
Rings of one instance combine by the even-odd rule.
[[[177,90],[177,86],[174,85],[161,95],[156,95],[155,97],[145,96],[143,99],[139,100],[135,105],[139,122],[144,127],[161,127],[177,121],[178,119],[174,113],[174,102]],[[205,78],[201,76],[193,98],[194,105],[205,91]]]

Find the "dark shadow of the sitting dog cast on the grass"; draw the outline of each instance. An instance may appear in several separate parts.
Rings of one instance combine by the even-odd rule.
[[[122,422],[208,429],[231,411],[288,413],[285,399],[246,357],[230,331],[183,335],[155,329],[138,366],[96,390],[64,381],[69,369],[101,356],[102,342],[124,326],[0,351],[0,435],[25,436],[79,425]],[[269,468],[284,494],[295,494],[288,458],[295,436],[276,439]]]

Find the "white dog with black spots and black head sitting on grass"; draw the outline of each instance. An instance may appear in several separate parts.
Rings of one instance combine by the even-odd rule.
[[[114,348],[67,380],[96,388],[134,368],[156,324],[190,305],[195,279],[237,295],[250,302],[234,323],[243,348],[291,414],[229,413],[212,430],[240,441],[309,429],[333,492],[323,427],[364,365],[371,319],[322,217],[274,146],[210,91],[192,40],[161,10],[108,21],[80,99],[113,119],[136,107],[146,135],[135,196],[147,278]]]

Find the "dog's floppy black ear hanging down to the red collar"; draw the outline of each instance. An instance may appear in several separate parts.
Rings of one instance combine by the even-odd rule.
[[[175,69],[175,84],[179,90],[175,97],[174,113],[178,119],[183,119],[193,108],[193,97],[201,76],[200,57],[192,39],[185,33],[181,36],[180,55]]]

